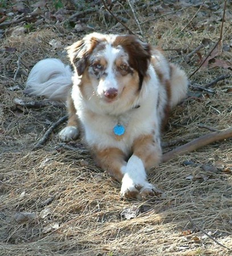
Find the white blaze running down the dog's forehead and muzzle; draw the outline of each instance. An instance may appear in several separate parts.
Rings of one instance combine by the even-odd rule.
[[[103,77],[100,78],[98,84],[97,93],[98,95],[104,97],[104,93],[107,90],[115,89],[118,91],[118,82],[115,77],[115,60],[117,59],[120,48],[114,48],[110,44],[106,45],[106,48],[102,52],[102,57],[105,58],[107,67],[105,69]]]

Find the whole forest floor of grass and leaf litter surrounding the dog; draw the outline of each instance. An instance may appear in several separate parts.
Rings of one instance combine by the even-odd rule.
[[[106,3],[190,77],[189,97],[172,111],[163,133],[164,152],[209,129],[231,127],[230,1],[223,30],[224,1]],[[80,139],[59,141],[64,123],[34,148],[65,115],[64,108],[23,108],[15,99],[42,100],[23,94],[28,72],[40,59],[58,57],[68,64],[65,47],[86,33],[127,29],[101,1],[1,0],[0,5],[0,255],[231,255],[231,139],[153,168],[148,179],[160,189],[157,195],[121,200],[120,184],[94,165]],[[199,89],[220,76],[224,79],[211,90]],[[173,140],[179,143],[167,147]]]

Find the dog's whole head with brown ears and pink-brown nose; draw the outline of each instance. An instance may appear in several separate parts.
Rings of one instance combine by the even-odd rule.
[[[138,96],[151,59],[150,46],[132,35],[93,33],[68,47],[81,77],[83,96],[98,97],[103,105],[132,104]]]

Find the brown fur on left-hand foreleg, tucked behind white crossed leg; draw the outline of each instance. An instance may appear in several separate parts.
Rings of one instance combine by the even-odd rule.
[[[121,168],[126,166],[125,154],[119,148],[98,150],[97,146],[93,146],[93,152],[97,166],[109,172],[118,181],[121,181],[123,177]]]

